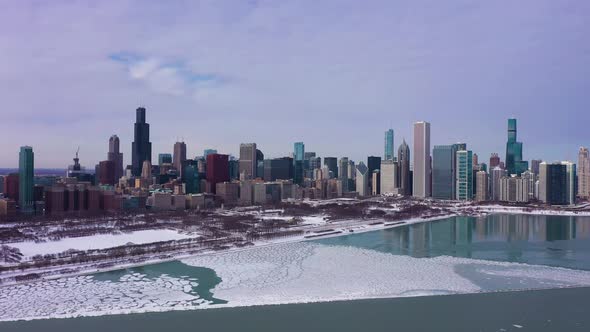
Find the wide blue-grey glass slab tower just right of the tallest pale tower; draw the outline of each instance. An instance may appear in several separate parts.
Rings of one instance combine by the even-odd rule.
[[[432,197],[455,199],[455,145],[435,145],[432,149]]]

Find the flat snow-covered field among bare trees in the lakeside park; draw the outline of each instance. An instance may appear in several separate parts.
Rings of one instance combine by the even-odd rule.
[[[143,230],[121,234],[98,234],[83,237],[64,238],[59,241],[17,242],[6,243],[7,246],[20,249],[25,257],[35,255],[58,254],[69,249],[90,250],[105,249],[125,245],[127,243],[144,244],[160,241],[171,241],[190,238],[170,229]]]

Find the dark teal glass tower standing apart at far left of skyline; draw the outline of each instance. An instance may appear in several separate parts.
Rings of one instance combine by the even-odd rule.
[[[35,202],[33,200],[34,184],[34,168],[35,155],[33,148],[30,146],[23,146],[20,148],[19,163],[18,163],[18,177],[19,177],[19,198],[18,204],[23,213],[32,213],[35,209]]]

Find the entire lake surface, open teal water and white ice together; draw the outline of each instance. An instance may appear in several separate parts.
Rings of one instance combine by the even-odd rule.
[[[409,271],[406,279],[404,271]],[[590,272],[587,271],[590,271],[590,218],[456,217],[308,243],[101,273],[81,282],[74,281],[75,287],[68,286],[72,281],[43,285],[40,288],[44,292],[49,290],[56,300],[40,306],[45,311],[31,311],[29,316],[42,316],[50,312],[52,306],[66,314],[84,314],[100,308],[104,310],[100,307],[104,303],[109,303],[107,312],[111,315],[6,322],[0,323],[0,331],[160,331],[170,328],[586,331],[590,329],[588,287],[245,305],[274,303],[281,298],[294,297],[313,301],[322,301],[321,296],[327,300],[338,299],[335,295],[343,290],[348,291],[346,294],[361,297],[387,296],[384,291],[398,286],[400,288],[394,294],[399,296],[419,295],[420,292],[453,294],[590,286]],[[411,280],[414,276],[418,279],[415,284]],[[362,293],[365,288],[371,292]],[[47,297],[41,293],[35,300],[36,289],[14,291],[12,294],[26,295],[5,295],[6,303],[17,297],[20,303],[13,307],[6,305],[3,312],[1,292],[2,289],[0,317],[10,317],[11,308],[25,310]],[[80,302],[75,302],[72,292],[81,292],[82,295],[75,297],[80,298]],[[79,311],[87,299],[94,297],[93,292],[101,297],[97,302],[100,305],[96,307],[99,309],[92,307]],[[174,292],[187,298],[184,302],[178,301]],[[317,295],[321,296],[313,297]],[[145,296],[149,301],[136,300]],[[72,301],[69,308],[60,306]],[[121,308],[128,308],[121,306],[121,302],[130,303],[131,308],[153,308],[148,311],[176,310],[178,305],[215,308],[215,305],[238,303],[239,307],[113,315]]]

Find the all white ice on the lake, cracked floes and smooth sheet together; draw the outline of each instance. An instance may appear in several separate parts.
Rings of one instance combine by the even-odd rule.
[[[590,271],[441,256],[413,258],[313,242],[253,247],[182,260],[186,275],[119,281],[92,276],[0,288],[0,320],[65,318],[266,304],[590,286]],[[199,275],[215,270],[227,304],[199,298]],[[184,271],[176,271],[184,274]]]

